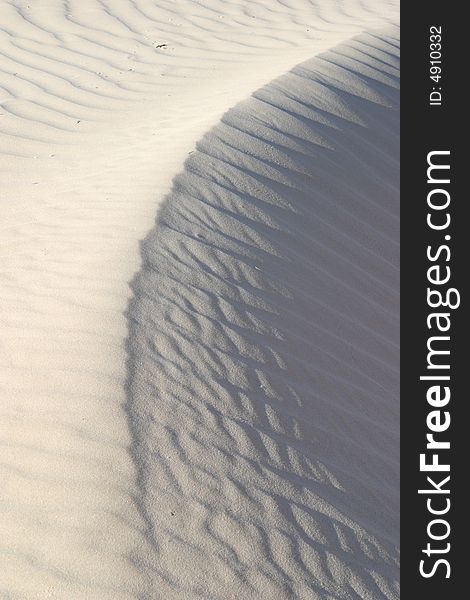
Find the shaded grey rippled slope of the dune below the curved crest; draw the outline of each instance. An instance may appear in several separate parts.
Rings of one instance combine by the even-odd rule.
[[[129,340],[151,598],[397,599],[398,30],[257,91],[142,245]]]

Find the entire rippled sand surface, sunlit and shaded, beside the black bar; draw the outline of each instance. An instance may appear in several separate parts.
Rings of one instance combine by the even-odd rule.
[[[398,597],[396,20],[0,3],[1,598]]]

